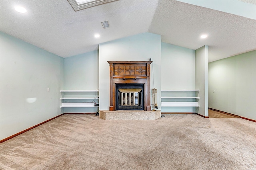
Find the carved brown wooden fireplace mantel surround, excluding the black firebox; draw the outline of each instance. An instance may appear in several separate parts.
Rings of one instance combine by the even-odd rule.
[[[110,66],[110,111],[116,110],[116,84],[144,84],[144,110],[150,107],[150,64],[152,61],[108,61]]]

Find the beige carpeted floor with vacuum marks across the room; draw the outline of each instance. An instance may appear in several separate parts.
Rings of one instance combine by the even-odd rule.
[[[6,170],[256,170],[256,123],[166,114],[62,115],[0,144]]]

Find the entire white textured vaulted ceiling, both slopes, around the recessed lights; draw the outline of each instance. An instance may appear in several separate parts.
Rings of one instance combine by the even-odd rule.
[[[28,12],[16,12],[18,5]],[[256,49],[256,20],[174,0],[118,0],[77,12],[67,0],[1,0],[0,31],[61,57],[144,32],[190,49],[209,45],[209,62]]]

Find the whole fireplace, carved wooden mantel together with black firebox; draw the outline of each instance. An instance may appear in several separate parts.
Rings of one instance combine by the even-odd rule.
[[[145,110],[150,107],[152,61],[108,61],[110,65],[110,111]]]

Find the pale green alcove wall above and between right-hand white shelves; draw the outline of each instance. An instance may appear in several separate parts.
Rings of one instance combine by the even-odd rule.
[[[195,89],[195,50],[161,43],[161,89]],[[177,96],[176,96],[177,95]],[[195,92],[162,92],[162,96],[195,96]],[[162,99],[163,102],[196,102],[195,99]],[[162,107],[161,112],[196,112],[195,107]]]

